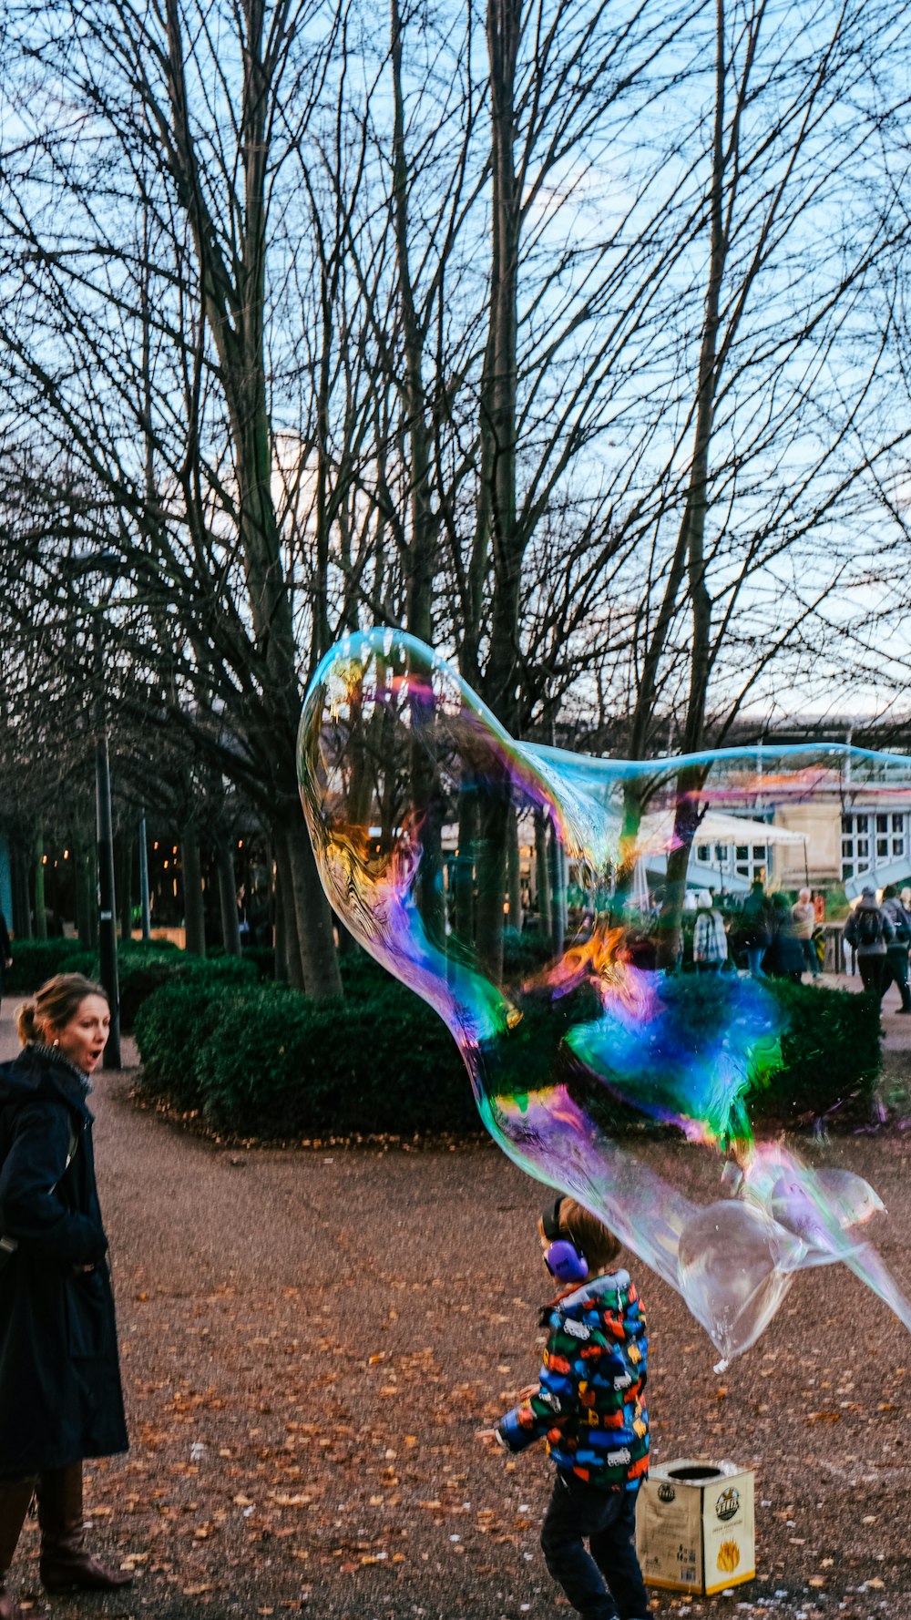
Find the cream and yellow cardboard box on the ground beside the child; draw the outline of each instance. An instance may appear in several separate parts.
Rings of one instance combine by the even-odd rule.
[[[755,1575],[754,1476],[681,1456],[639,1492],[635,1550],[648,1586],[710,1596]]]

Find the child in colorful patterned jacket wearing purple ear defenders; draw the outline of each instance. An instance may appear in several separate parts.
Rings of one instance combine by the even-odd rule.
[[[635,1498],[648,1473],[645,1315],[629,1273],[608,1270],[618,1239],[582,1204],[558,1199],[538,1236],[562,1285],[541,1317],[550,1332],[540,1383],[478,1439],[522,1452],[546,1435],[556,1463],[541,1529],[548,1570],[585,1620],[644,1620]]]

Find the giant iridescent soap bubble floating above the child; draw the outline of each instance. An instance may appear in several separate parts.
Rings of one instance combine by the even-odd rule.
[[[843,745],[629,763],[519,744],[446,659],[387,630],[339,642],[305,701],[300,792],[334,909],[446,1021],[501,1149],[600,1215],[725,1359],[806,1267],[848,1265],[911,1327],[861,1234],[874,1189],[760,1139],[794,993],[744,967],[763,970],[763,940],[773,967],[776,941],[794,977],[789,904],[755,888],[754,904],[751,885],[775,850],[798,888],[820,805],[843,831],[851,771],[885,776],[882,802],[893,763]],[[728,889],[723,972],[674,970],[694,880]],[[692,1144],[676,1162],[700,1162],[697,1191],[632,1150],[655,1123]]]

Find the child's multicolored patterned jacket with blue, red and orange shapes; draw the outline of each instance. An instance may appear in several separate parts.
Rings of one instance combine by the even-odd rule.
[[[546,1435],[561,1473],[606,1490],[635,1489],[648,1473],[648,1340],[629,1273],[574,1288],[541,1322],[550,1328],[541,1387],[501,1419],[499,1437],[522,1452]]]

